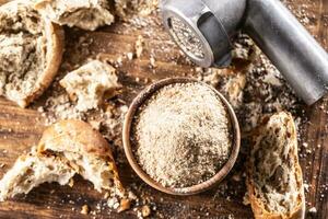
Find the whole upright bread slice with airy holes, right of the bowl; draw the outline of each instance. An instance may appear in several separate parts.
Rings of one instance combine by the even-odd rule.
[[[255,218],[304,218],[297,135],[290,113],[278,113],[259,128],[250,153],[247,188]]]

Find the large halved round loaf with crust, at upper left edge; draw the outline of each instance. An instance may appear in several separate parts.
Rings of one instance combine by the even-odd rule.
[[[63,31],[43,19],[30,1],[0,7],[0,95],[26,107],[57,74]]]

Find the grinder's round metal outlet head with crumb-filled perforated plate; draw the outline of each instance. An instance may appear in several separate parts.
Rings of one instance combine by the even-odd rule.
[[[201,67],[231,62],[231,42],[220,19],[202,1],[166,0],[164,24],[177,45]]]

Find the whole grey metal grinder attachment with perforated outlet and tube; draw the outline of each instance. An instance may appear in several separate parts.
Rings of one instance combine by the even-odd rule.
[[[165,27],[201,67],[230,65],[247,33],[307,104],[328,90],[328,55],[279,0],[163,0]]]

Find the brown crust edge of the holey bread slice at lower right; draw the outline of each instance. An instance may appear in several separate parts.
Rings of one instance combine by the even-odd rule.
[[[292,155],[291,159],[295,160],[295,175],[296,175],[296,183],[297,188],[300,192],[300,195],[297,197],[297,206],[290,212],[290,214],[279,214],[279,212],[269,212],[265,208],[265,204],[261,201],[260,198],[256,197],[256,187],[254,178],[251,177],[255,171],[255,168],[253,163],[250,162],[250,159],[248,159],[247,163],[247,191],[249,196],[249,203],[251,205],[251,209],[254,212],[254,216],[256,219],[301,219],[305,217],[305,196],[304,196],[304,186],[303,186],[303,175],[302,175],[302,169],[298,162],[298,155],[297,155],[297,134],[296,134],[296,127],[293,122],[293,117],[290,113],[280,113],[277,114],[278,116],[282,116],[285,119],[289,119],[289,130],[291,131],[291,139],[293,142],[293,147],[295,147],[294,153],[290,154]],[[263,135],[263,127],[268,123],[269,118],[263,119],[263,125],[258,128],[255,136],[258,137],[260,135]],[[256,141],[256,140],[255,140]]]

